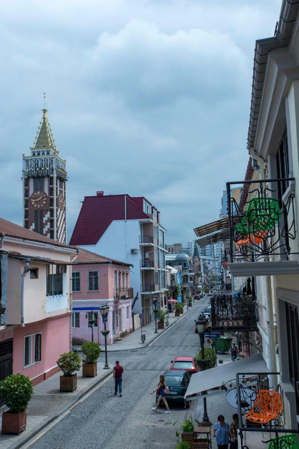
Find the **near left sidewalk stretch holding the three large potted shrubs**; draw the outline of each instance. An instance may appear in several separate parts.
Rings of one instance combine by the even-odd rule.
[[[27,426],[20,435],[0,434],[0,448],[16,449],[21,448],[28,440],[40,432],[51,421],[72,407],[79,399],[85,396],[92,388],[102,382],[112,373],[112,367],[104,370],[103,361],[98,362],[98,375],[96,377],[82,377],[82,367],[77,373],[77,390],[74,392],[59,391],[59,377],[61,373],[56,373],[49,379],[40,382],[33,387],[34,395],[27,410]],[[2,411],[7,410],[2,407]],[[0,416],[0,425],[2,414]]]

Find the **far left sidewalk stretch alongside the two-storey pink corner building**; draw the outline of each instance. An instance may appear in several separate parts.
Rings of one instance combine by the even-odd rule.
[[[146,341],[145,343],[141,342],[141,328],[137,329],[136,331],[132,332],[131,334],[126,335],[121,341],[115,341],[112,345],[107,345],[107,352],[114,352],[114,351],[128,351],[132,349],[141,349],[145,348],[151,343],[155,338],[157,338],[159,335],[161,335],[163,332],[165,332],[169,327],[173,326],[176,321],[181,319],[185,316],[186,312],[189,312],[189,310],[192,310],[194,308],[194,305],[198,304],[199,301],[196,303],[193,303],[192,307],[189,307],[187,310],[187,307],[184,307],[184,313],[180,316],[174,316],[174,312],[169,313],[169,325],[166,327],[164,323],[164,329],[158,329],[158,333],[155,334],[155,322],[147,324],[146,326],[143,326],[142,333],[146,335]],[[73,348],[77,349],[78,351],[81,350],[81,345],[73,345]],[[101,345],[101,351],[105,351],[105,346]]]

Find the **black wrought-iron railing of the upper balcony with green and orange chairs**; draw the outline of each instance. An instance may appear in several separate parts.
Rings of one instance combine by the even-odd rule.
[[[231,195],[243,184],[241,200]],[[231,262],[290,260],[298,254],[295,178],[227,183]]]

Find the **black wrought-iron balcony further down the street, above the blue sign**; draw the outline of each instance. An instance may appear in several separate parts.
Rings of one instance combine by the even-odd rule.
[[[258,331],[255,296],[222,294],[211,298],[212,330]]]

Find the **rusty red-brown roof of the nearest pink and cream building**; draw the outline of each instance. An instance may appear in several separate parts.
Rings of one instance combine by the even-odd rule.
[[[71,245],[66,245],[59,241],[55,241],[52,238],[39,234],[38,232],[26,229],[23,226],[16,225],[15,223],[8,222],[0,218],[0,234],[7,235],[8,237],[16,237],[24,240],[40,241],[42,243],[48,243],[50,245],[62,246],[65,248],[76,249]]]

